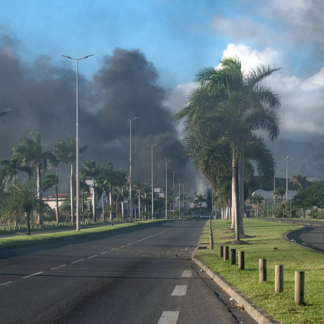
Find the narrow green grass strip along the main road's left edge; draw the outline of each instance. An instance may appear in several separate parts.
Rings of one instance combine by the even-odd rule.
[[[123,229],[126,227],[134,227],[134,226],[143,226],[145,224],[156,223],[160,221],[165,221],[165,219],[158,220],[148,220],[141,222],[133,222],[133,223],[123,223],[116,224],[114,226],[101,226],[95,228],[87,228],[81,229],[81,231],[64,231],[64,232],[55,232],[55,233],[42,233],[42,234],[34,234],[34,235],[21,235],[21,236],[13,236],[13,237],[2,237],[0,238],[0,250],[7,249],[16,249],[22,247],[28,247],[33,245],[41,245],[47,243],[55,243],[62,241],[74,240],[77,238],[83,237],[91,237],[95,235],[105,234],[109,231],[115,231],[118,229]]]

